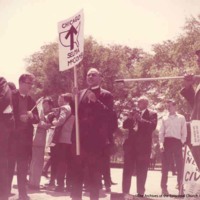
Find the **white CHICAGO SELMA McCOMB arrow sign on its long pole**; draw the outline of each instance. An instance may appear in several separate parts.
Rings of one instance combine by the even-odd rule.
[[[83,59],[83,10],[69,19],[58,22],[59,70],[74,68],[74,87],[78,90],[76,65]],[[80,155],[80,136],[78,120],[78,94],[75,94],[76,154]]]

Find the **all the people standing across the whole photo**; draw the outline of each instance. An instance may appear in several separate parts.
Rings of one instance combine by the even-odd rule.
[[[200,66],[200,51],[196,54]],[[12,83],[0,77],[0,199],[8,200],[11,194],[15,166],[19,200],[30,199],[27,187],[41,189],[41,176],[47,174],[48,166],[51,166],[48,186],[55,187],[55,191],[64,191],[66,187],[72,200],[81,200],[85,189],[89,191],[91,200],[98,200],[102,177],[107,192],[110,192],[110,151],[114,146],[113,133],[117,128],[113,96],[101,87],[101,73],[96,68],[90,68],[86,77],[88,87],[77,91],[80,155],[76,151],[74,94],[59,95],[57,107],[50,97],[43,98],[39,113],[30,96],[34,79],[32,74],[22,74],[19,77],[19,88],[16,89]],[[200,88],[194,92],[194,79],[191,74],[185,76],[185,87],[181,94],[193,106],[192,119],[199,119]],[[186,120],[176,111],[176,101],[170,99],[165,103],[168,113],[163,116],[159,130],[161,189],[163,195],[169,194],[167,176],[173,157],[180,194],[183,178],[182,147],[187,138]],[[137,194],[140,197],[145,194],[152,156],[152,133],[157,127],[157,121],[157,112],[149,108],[149,100],[143,95],[138,98],[137,109],[133,109],[123,122],[123,128],[129,130],[123,146],[122,193],[125,198],[130,194],[133,170],[136,173]],[[48,141],[50,159],[44,172],[47,133],[51,133],[52,137]],[[192,148],[192,153],[199,166],[199,148]]]

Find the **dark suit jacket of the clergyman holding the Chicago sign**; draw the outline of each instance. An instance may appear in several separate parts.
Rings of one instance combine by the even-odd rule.
[[[103,88],[94,90],[97,101],[88,102],[88,89],[79,94],[80,145],[85,151],[97,153],[106,146],[110,137],[109,120],[113,109],[113,96]]]

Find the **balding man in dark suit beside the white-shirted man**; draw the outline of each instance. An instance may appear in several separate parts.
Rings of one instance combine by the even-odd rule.
[[[124,168],[122,191],[129,194],[131,176],[135,167],[137,177],[137,193],[143,196],[148,167],[150,163],[152,132],[157,126],[157,113],[148,109],[148,99],[138,99],[139,111],[134,111],[123,123],[129,129],[129,137],[124,144]]]

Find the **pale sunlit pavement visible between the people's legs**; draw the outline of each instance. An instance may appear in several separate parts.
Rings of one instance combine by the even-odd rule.
[[[116,182],[117,185],[112,185],[111,193],[121,193],[121,183],[122,183],[122,169],[121,168],[111,168],[111,176],[113,182]],[[149,170],[148,177],[146,181],[146,192],[145,197],[149,199],[176,199],[178,195],[178,190],[176,189],[177,178],[176,176],[172,176],[171,172],[168,175],[168,190],[170,193],[170,197],[161,196],[160,189],[160,180],[161,180],[161,171],[160,170]],[[42,177],[41,185],[44,185],[49,182],[49,179]],[[131,184],[131,194],[133,195],[133,199],[136,198],[136,178],[132,177]],[[13,180],[13,188],[12,193],[15,193],[14,196],[10,197],[9,200],[17,200],[18,199],[18,191],[16,186],[16,176],[14,176]],[[111,193],[106,193],[105,190],[100,191],[100,200],[110,200]],[[31,200],[71,200],[69,192],[54,192],[53,190],[40,190],[33,191],[28,190],[28,195],[31,197]],[[83,200],[89,200],[89,193],[83,192]],[[145,199],[145,198],[144,198]],[[178,198],[180,199],[180,197]],[[113,200],[113,198],[112,198]],[[116,200],[120,200],[117,199]]]

